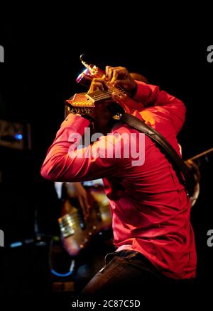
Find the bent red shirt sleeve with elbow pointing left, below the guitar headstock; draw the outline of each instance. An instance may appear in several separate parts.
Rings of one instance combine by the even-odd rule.
[[[116,157],[116,152],[123,144],[121,135],[111,133],[92,145],[77,148],[88,126],[89,121],[80,115],[68,115],[43,162],[41,175],[45,179],[74,182],[120,175],[124,159]],[[107,150],[111,157],[107,157]]]

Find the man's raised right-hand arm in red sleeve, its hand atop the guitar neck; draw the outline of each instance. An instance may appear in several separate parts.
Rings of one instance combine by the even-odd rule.
[[[117,84],[123,87],[129,94],[133,96],[135,101],[141,103],[141,106],[133,104],[129,101],[125,105],[125,98],[116,97],[116,101],[124,107],[126,112],[134,113],[134,111],[141,111],[143,108],[148,108],[155,113],[158,111],[159,117],[165,118],[173,124],[175,132],[178,133],[185,121],[185,105],[178,98],[171,96],[165,91],[160,91],[158,86],[146,84],[142,81],[133,80],[128,70],[124,67],[106,67],[106,75],[111,84]],[[158,108],[153,108],[158,106]],[[140,108],[141,107],[141,108]]]

